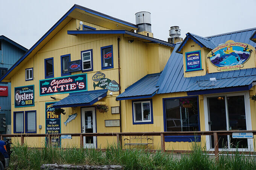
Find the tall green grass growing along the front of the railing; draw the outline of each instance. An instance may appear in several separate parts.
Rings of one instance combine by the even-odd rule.
[[[109,144],[103,150],[69,147],[45,146],[41,149],[29,148],[14,143],[11,155],[11,170],[39,170],[42,164],[74,165],[122,165],[126,170],[252,170],[256,169],[256,157],[253,155],[219,155],[204,154],[206,150],[201,143],[192,144],[192,153],[181,154],[180,158],[172,153],[157,150],[150,153],[143,149],[122,150],[117,145]]]

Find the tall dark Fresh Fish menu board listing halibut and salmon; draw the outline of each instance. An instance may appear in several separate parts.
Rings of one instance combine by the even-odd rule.
[[[46,118],[46,134],[60,134],[61,133],[61,115],[55,115],[55,110],[52,105],[56,102],[45,103],[45,118]],[[60,146],[61,137],[52,136],[51,140],[53,146]],[[48,143],[48,138],[46,138]]]

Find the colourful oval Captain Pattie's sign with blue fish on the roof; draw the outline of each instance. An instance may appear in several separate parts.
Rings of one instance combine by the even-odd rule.
[[[229,43],[222,44],[208,53],[207,59],[217,70],[239,70],[244,67],[243,64],[250,58],[253,50],[245,43],[227,42]]]

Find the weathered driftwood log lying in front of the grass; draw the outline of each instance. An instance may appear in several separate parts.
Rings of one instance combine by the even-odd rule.
[[[69,164],[43,164],[40,169],[47,170],[122,170],[123,167],[121,165],[69,165]]]

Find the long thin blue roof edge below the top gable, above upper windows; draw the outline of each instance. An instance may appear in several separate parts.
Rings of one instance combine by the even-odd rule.
[[[130,32],[130,31],[127,31],[127,30],[68,30],[67,34],[69,34],[69,35],[77,35],[77,34],[127,34],[127,35],[136,36],[138,38],[147,39],[147,40],[149,40],[151,42],[154,42],[154,43],[160,43],[160,44],[163,44],[165,46],[174,47],[174,44],[172,44],[172,43],[168,43],[168,42],[160,40],[160,39],[152,38],[152,37],[149,37],[149,36],[141,35],[139,33],[134,33],[134,32]]]

